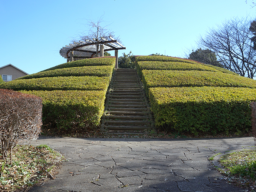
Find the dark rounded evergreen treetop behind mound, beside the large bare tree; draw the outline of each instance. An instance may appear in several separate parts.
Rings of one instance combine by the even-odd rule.
[[[198,61],[200,63],[210,64],[218,67],[223,67],[218,61],[214,52],[209,49],[197,49],[192,50],[192,53],[189,54],[188,59]]]

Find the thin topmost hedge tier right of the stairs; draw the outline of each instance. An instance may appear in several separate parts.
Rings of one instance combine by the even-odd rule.
[[[136,57],[136,62],[140,61],[161,61],[161,62],[184,62],[184,63],[194,63],[198,64],[199,62],[190,60],[190,59],[182,59],[178,57],[167,57],[167,56],[138,56]]]

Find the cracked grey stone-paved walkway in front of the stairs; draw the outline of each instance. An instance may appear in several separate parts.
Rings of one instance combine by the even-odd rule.
[[[29,192],[239,192],[207,157],[254,146],[253,138],[116,139],[40,137],[61,152],[54,180]]]

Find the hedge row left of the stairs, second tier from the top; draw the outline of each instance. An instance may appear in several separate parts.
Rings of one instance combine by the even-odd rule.
[[[26,75],[18,79],[32,79],[41,77],[58,77],[58,76],[98,76],[109,77],[112,75],[112,66],[83,66],[83,67],[68,67],[63,69],[54,69]]]

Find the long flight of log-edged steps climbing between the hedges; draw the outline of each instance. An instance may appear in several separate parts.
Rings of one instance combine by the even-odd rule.
[[[142,82],[135,69],[116,69],[105,100],[101,133],[140,134],[155,130]]]

